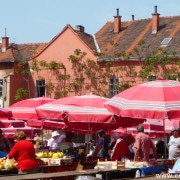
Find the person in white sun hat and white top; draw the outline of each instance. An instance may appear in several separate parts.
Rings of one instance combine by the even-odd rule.
[[[57,150],[58,149],[58,139],[60,134],[57,131],[53,131],[51,138],[48,140],[47,147],[49,150]]]

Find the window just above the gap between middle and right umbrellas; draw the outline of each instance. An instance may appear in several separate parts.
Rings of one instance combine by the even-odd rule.
[[[119,78],[109,79],[109,97],[113,97],[119,93]]]

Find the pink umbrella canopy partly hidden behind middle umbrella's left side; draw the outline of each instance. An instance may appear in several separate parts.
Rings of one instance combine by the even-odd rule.
[[[52,102],[55,99],[47,98],[47,97],[38,97],[21,100],[17,103],[14,103],[9,107],[12,111],[12,115],[14,119],[37,119],[37,114],[35,108],[42,104]]]

